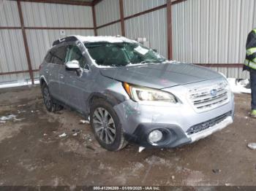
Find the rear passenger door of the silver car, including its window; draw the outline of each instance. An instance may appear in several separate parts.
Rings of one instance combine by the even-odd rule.
[[[61,76],[59,71],[64,68],[67,46],[54,47],[49,53],[52,56],[48,64],[50,94],[53,98],[64,101],[64,92],[61,88],[64,85],[64,76]]]

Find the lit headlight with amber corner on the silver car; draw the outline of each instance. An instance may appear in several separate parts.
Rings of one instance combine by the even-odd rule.
[[[123,85],[128,95],[134,101],[164,101],[173,104],[177,103],[175,96],[171,93],[167,93],[161,90],[154,90],[147,87],[129,85],[127,82],[124,82]]]

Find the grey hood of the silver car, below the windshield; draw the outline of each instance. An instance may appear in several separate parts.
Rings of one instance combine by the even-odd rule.
[[[100,72],[121,82],[157,89],[222,77],[201,66],[176,62],[102,68]]]

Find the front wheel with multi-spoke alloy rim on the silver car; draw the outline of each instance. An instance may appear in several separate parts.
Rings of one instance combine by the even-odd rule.
[[[118,151],[127,146],[121,122],[108,102],[95,100],[91,104],[90,119],[94,136],[103,148]]]

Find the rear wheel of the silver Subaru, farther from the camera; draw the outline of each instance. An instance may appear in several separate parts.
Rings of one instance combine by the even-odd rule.
[[[54,98],[50,95],[50,91],[46,83],[42,84],[41,90],[42,98],[48,112],[59,112],[61,109],[63,109],[63,107],[60,104],[57,104]]]

